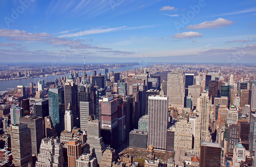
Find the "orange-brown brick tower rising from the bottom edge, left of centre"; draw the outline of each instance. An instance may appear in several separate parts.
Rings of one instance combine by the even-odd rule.
[[[72,138],[68,143],[68,164],[69,167],[76,167],[75,160],[82,155],[81,142],[79,138]]]

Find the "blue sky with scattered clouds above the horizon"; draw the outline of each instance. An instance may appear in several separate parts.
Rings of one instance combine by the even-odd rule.
[[[0,0],[1,62],[256,62],[256,1]]]

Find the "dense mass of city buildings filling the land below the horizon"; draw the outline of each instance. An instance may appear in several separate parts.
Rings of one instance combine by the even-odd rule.
[[[256,166],[255,69],[84,64],[0,92],[0,166]]]

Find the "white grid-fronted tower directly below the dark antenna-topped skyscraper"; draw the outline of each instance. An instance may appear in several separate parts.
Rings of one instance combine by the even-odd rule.
[[[93,115],[93,101],[80,102],[80,127],[82,131],[87,130],[89,116]]]

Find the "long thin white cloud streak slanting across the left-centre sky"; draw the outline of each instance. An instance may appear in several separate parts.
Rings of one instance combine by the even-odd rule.
[[[78,36],[85,36],[85,35],[92,35],[92,34],[101,34],[101,33],[110,33],[110,32],[116,32],[116,31],[124,31],[124,30],[135,30],[135,29],[143,29],[147,27],[152,27],[154,25],[146,25],[146,26],[136,26],[136,27],[127,27],[127,26],[119,26],[115,28],[107,27],[106,29],[103,28],[97,28],[92,30],[84,30],[77,33],[71,33],[71,34],[65,34],[58,36],[59,38],[62,37],[78,37]]]

